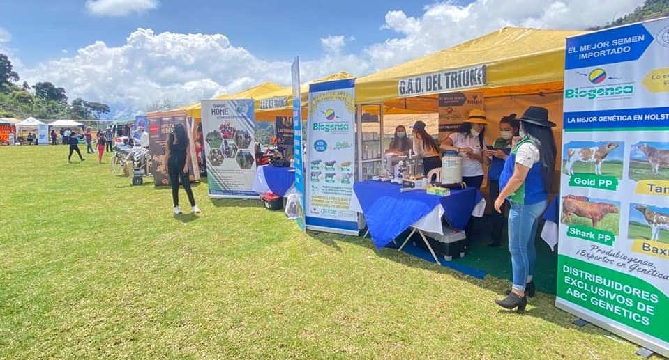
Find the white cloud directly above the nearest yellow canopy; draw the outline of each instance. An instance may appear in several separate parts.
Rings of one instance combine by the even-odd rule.
[[[364,55],[382,69],[476,38],[504,26],[540,29],[586,29],[630,13],[641,0],[476,0],[466,6],[436,3],[421,17],[403,11],[386,13],[382,29],[399,36],[368,46]]]

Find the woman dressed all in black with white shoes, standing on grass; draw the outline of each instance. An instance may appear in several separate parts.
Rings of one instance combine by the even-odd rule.
[[[170,174],[170,182],[172,183],[174,214],[181,214],[181,208],[179,208],[179,179],[181,179],[183,189],[186,190],[193,212],[199,213],[200,208],[195,205],[193,189],[190,189],[190,179],[188,178],[187,160],[190,158],[190,141],[186,129],[183,128],[181,123],[174,124],[174,130],[170,132],[170,136],[167,136],[165,158],[167,158],[167,173]]]

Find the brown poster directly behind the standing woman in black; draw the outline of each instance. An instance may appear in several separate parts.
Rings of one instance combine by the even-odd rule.
[[[167,157],[165,156],[165,144],[170,132],[174,129],[174,124],[182,123],[186,125],[186,119],[181,117],[176,118],[157,118],[149,120],[149,150],[151,150],[151,164],[153,166],[153,184],[154,185],[170,185],[170,174],[167,173]],[[191,151],[193,147],[191,146]],[[193,163],[188,162],[188,179],[195,181],[193,174]],[[179,180],[181,181],[181,180]]]

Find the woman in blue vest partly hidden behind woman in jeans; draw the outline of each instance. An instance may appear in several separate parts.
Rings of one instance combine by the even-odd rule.
[[[493,148],[484,150],[483,155],[490,157],[490,169],[488,169],[488,189],[490,189],[490,201],[495,201],[499,196],[499,175],[504,169],[504,161],[509,157],[511,152],[511,142],[514,136],[518,136],[520,129],[520,121],[516,118],[516,114],[504,116],[499,121],[499,134],[502,135],[493,143]],[[504,203],[502,205],[502,213],[493,211],[493,224],[490,233],[490,242],[488,247],[499,246],[502,243],[502,229],[506,218],[504,213],[509,206]]]

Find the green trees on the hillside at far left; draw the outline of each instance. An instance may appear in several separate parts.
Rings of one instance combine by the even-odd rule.
[[[20,76],[5,54],[0,54],[0,117],[93,120],[109,114],[102,102],[84,101],[77,97],[68,102],[64,88],[43,81],[30,86],[19,85]]]

